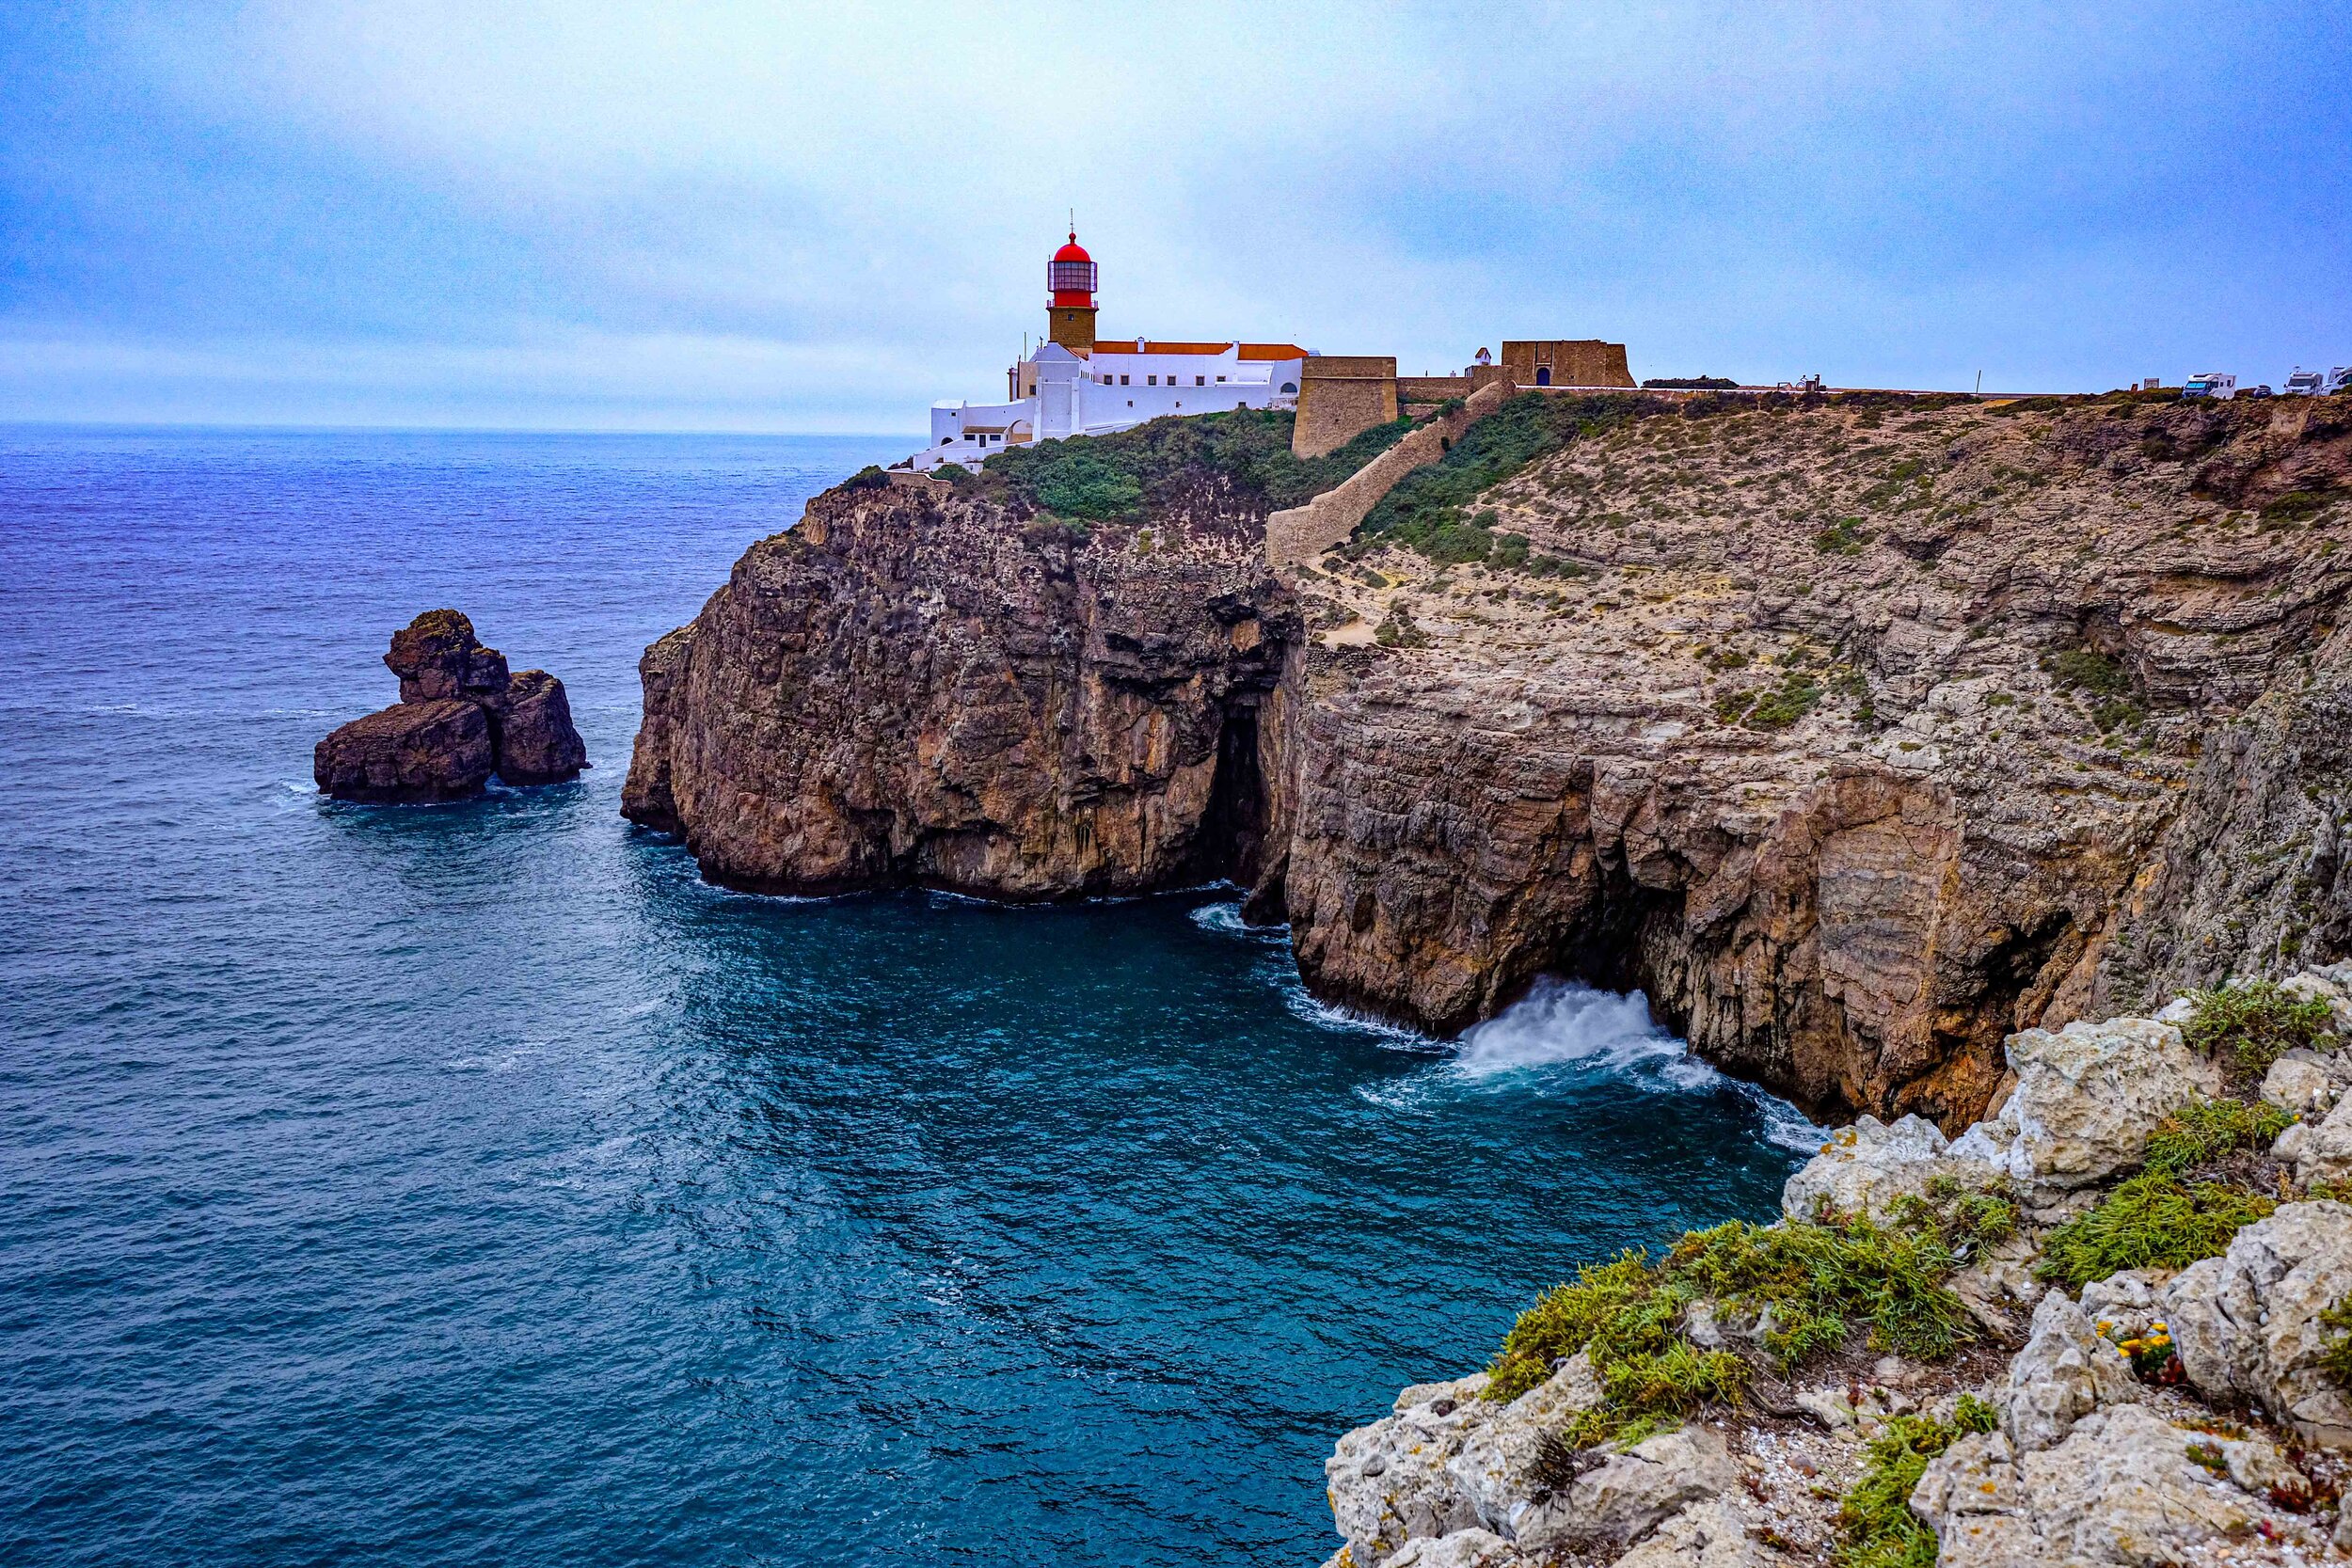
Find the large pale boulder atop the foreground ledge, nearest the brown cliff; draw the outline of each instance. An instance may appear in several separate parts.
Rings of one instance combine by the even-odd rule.
[[[2223,1088],[2220,1063],[2154,1018],[2020,1030],[2006,1051],[2016,1088],[1992,1121],[1952,1140],[1950,1157],[2002,1171],[2027,1201],[2136,1166],[2164,1117]]]

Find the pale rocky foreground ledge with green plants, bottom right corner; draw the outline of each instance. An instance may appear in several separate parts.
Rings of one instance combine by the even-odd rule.
[[[2023,1030],[1945,1138],[1585,1267],[1327,1462],[1334,1568],[2145,1568],[2352,1549],[2352,964]]]

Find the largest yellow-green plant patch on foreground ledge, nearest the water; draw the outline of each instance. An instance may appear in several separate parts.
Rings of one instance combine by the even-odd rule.
[[[1736,1403],[1755,1368],[1684,1335],[1698,1300],[1726,1321],[1769,1316],[1762,1347],[1783,1368],[1842,1347],[1856,1324],[1867,1326],[1872,1349],[1940,1359],[1973,1333],[1943,1286],[1955,1267],[1936,1227],[1825,1220],[1686,1232],[1656,1262],[1625,1251],[1522,1312],[1489,1366],[1486,1399],[1517,1399],[1585,1352],[1604,1399],[1562,1434],[1573,1448],[1639,1441],[1698,1406]]]

